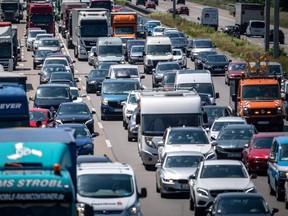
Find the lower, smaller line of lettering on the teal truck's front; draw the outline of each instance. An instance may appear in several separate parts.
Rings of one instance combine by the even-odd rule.
[[[1,201],[14,200],[64,200],[64,194],[58,193],[3,193],[0,194]]]

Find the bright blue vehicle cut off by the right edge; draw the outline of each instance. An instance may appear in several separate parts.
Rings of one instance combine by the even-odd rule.
[[[270,194],[276,195],[277,200],[284,200],[286,173],[288,172],[288,138],[275,137],[268,157],[268,184]],[[287,193],[287,191],[286,191]]]

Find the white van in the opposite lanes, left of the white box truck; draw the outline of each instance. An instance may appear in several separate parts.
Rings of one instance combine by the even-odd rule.
[[[218,8],[204,7],[201,10],[201,17],[198,17],[201,25],[210,26],[217,31],[219,22]]]

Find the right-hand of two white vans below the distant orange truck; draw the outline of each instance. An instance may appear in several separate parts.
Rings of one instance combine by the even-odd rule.
[[[149,36],[144,46],[144,73],[152,73],[158,62],[173,61],[172,44],[167,36]]]

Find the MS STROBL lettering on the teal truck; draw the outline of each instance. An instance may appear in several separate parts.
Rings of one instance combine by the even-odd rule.
[[[57,187],[62,188],[61,180],[48,179],[14,179],[0,180],[0,188],[3,187]]]

